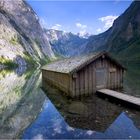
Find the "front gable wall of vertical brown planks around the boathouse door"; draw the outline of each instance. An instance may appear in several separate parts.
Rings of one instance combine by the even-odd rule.
[[[105,88],[117,89],[122,87],[123,70],[108,58],[98,58],[77,72],[77,77],[72,78],[73,96],[88,95],[96,92],[96,69],[105,68],[107,82]]]

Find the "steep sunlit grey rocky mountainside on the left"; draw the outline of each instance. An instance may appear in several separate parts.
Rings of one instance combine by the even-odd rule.
[[[54,59],[39,18],[24,0],[0,0],[0,65]]]

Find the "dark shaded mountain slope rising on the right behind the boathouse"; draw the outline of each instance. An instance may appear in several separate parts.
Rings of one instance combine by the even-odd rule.
[[[134,1],[106,32],[91,36],[85,52],[106,50],[123,63],[140,61],[140,2]]]

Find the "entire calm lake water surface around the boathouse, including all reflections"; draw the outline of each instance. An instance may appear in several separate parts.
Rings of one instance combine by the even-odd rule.
[[[140,97],[140,73],[128,71],[124,92]],[[95,95],[72,100],[41,87],[40,70],[0,72],[0,138],[140,138],[140,111]]]

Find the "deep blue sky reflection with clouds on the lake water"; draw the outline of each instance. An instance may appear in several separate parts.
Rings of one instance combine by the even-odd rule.
[[[133,121],[124,112],[104,132],[71,127],[66,123],[51,101],[47,100],[44,103],[43,111],[37,120],[25,130],[22,138],[140,138],[140,130],[136,128]]]

